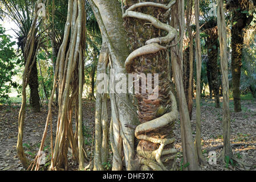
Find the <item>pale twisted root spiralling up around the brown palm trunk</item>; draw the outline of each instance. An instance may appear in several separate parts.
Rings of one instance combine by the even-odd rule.
[[[145,43],[146,44],[145,46],[140,47],[135,51],[133,51],[125,60],[125,68],[127,69],[128,72],[132,72],[133,60],[136,59],[136,57],[149,55],[157,52],[160,52],[160,55],[161,55],[161,51],[166,49],[166,47],[160,46],[160,44],[168,44],[172,42],[172,40],[177,35],[176,29],[169,26],[168,24],[160,22],[159,19],[151,15],[135,12],[132,10],[135,10],[138,7],[152,6],[152,7],[164,9],[166,10],[166,12],[167,11],[169,12],[170,8],[174,5],[174,3],[176,3],[175,0],[170,1],[168,5],[162,5],[160,3],[154,3],[154,2],[142,2],[129,7],[125,11],[125,13],[123,14],[123,18],[129,17],[129,18],[138,18],[141,20],[147,20],[150,22],[150,24],[152,24],[152,26],[168,32],[168,35],[160,38],[150,39]],[[135,69],[135,72],[137,73],[140,73],[141,71],[142,70],[140,68]],[[141,97],[141,100],[143,101],[141,101],[142,105],[139,106],[140,110],[142,110],[142,111],[139,111],[139,116],[145,112],[143,115],[145,114],[148,115],[148,118],[140,119],[140,121],[143,123],[141,123],[139,126],[136,127],[135,137],[141,140],[141,142],[147,141],[149,143],[154,143],[157,146],[157,150],[153,150],[153,151],[152,150],[145,151],[143,143],[137,146],[137,155],[139,156],[140,163],[143,165],[141,168],[145,170],[148,170],[150,168],[153,170],[167,170],[167,168],[164,166],[162,162],[163,161],[166,162],[168,160],[174,159],[177,153],[177,151],[174,148],[168,148],[169,146],[172,146],[172,144],[174,143],[174,138],[166,138],[166,136],[168,135],[166,133],[161,136],[156,135],[157,131],[163,130],[165,128],[171,128],[172,126],[174,126],[174,121],[178,117],[176,98],[174,97],[173,93],[169,91],[168,84],[161,83],[161,81],[160,81],[160,84],[162,84],[162,88],[158,88],[158,89],[161,89],[161,91],[163,91],[162,93],[160,92],[161,93],[160,96],[163,98],[164,103],[167,105],[164,110],[165,111],[171,110],[171,111],[166,114],[163,113],[164,115],[161,114],[160,115],[161,117],[151,120],[150,118],[156,115],[156,112],[152,113],[151,109],[147,107],[148,105],[147,102],[151,103],[151,101],[149,101],[150,99],[148,98],[149,100],[145,100],[143,99],[143,97]],[[137,97],[140,97],[140,96],[137,96]],[[143,110],[143,107],[146,109]],[[140,118],[146,118],[146,117],[143,117],[143,115],[141,115]],[[165,149],[166,146],[168,147]]]

